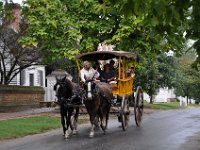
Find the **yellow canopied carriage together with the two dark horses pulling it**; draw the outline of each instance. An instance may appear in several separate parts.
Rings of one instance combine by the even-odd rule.
[[[83,67],[83,61],[97,62],[114,59],[116,62],[116,80],[110,83],[88,80],[84,84],[81,83],[81,86],[70,83],[66,79],[57,81],[55,90],[60,101],[61,122],[64,134],[67,130],[66,137],[69,136],[69,126],[73,131],[76,131],[79,106],[81,106],[80,101],[83,101],[90,116],[92,125],[90,137],[94,136],[94,127],[98,125],[105,133],[110,108],[117,112],[118,120],[125,131],[129,123],[129,107],[133,106],[135,122],[139,126],[143,114],[143,91],[139,86],[134,94],[134,68],[137,56],[134,53],[125,51],[95,51],[80,54],[76,56],[76,59],[79,71]],[[80,94],[81,90],[79,89],[81,88],[83,89],[83,94]],[[76,110],[75,113],[73,113],[74,110]],[[65,122],[67,123],[67,128],[65,127]]]

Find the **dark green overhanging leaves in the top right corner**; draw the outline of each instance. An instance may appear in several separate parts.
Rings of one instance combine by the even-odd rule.
[[[173,45],[179,44],[186,33],[186,39],[195,41],[191,46],[198,54],[194,66],[200,63],[199,0],[102,0],[99,3],[105,7],[120,6],[120,12],[126,18],[142,16],[147,24],[155,27],[153,32],[166,37]],[[181,52],[177,48],[173,50]]]

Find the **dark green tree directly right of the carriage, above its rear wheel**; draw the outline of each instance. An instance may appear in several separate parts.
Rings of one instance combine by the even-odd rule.
[[[175,60],[167,53],[155,56],[143,56],[140,58],[141,65],[136,70],[135,86],[142,86],[149,95],[150,103],[160,88],[169,89],[175,85]]]

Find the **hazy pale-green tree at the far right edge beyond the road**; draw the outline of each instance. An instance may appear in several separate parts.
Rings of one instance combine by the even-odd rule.
[[[177,58],[175,93],[188,100],[193,98],[200,100],[200,72],[191,67],[196,55],[188,52],[181,58]]]

